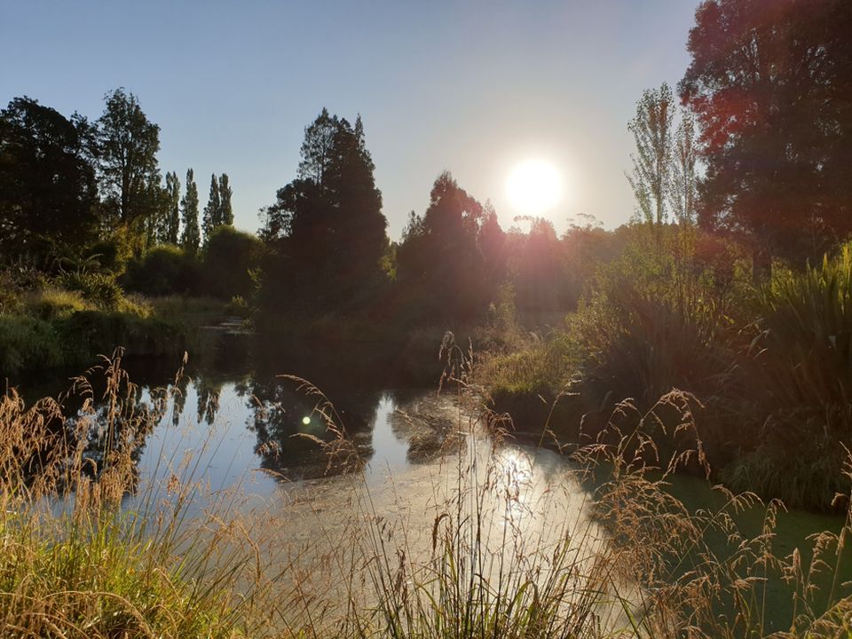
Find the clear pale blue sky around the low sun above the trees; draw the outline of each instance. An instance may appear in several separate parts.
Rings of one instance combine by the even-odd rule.
[[[0,0],[0,106],[26,95],[91,119],[135,93],[159,124],[163,172],[192,167],[201,205],[227,173],[234,224],[296,177],[325,106],[360,114],[388,233],[449,170],[509,228],[510,171],[551,162],[564,199],[605,227],[634,210],[627,122],[644,89],[680,80],[698,0],[43,2]]]

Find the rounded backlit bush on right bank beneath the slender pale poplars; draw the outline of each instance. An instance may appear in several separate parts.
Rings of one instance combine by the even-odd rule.
[[[575,320],[584,386],[644,409],[673,388],[713,394],[733,363],[726,307],[709,273],[636,242],[598,273]]]

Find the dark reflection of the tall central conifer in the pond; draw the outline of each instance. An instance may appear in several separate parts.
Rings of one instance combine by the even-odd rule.
[[[327,429],[322,414],[322,398],[309,396],[291,380],[272,378],[250,384],[247,405],[251,411],[248,428],[257,436],[256,454],[261,467],[289,480],[319,477],[341,468],[329,465],[327,454],[316,439],[328,442],[335,434]],[[367,459],[370,431],[375,423],[381,395],[377,391],[333,390],[334,419],[342,422],[352,452]],[[309,437],[300,437],[308,435]]]

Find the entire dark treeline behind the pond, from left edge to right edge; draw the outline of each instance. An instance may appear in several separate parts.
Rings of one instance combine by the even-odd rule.
[[[749,248],[761,275],[773,257],[801,268],[852,231],[850,6],[707,0],[680,113],[665,84],[639,100],[628,125],[638,218],[698,222],[697,244],[677,250],[694,250],[720,282],[731,245]],[[509,294],[522,317],[548,318],[571,310],[624,244],[624,232],[595,225],[562,237],[545,219],[503,229],[448,172],[392,242],[360,117],[323,109],[296,176],[263,211],[261,246],[217,234],[233,223],[227,175],[211,177],[203,209],[193,170],[183,188],[176,172],[163,181],[159,134],[123,89],[94,122],[12,99],[0,113],[0,260],[126,270],[133,290],[241,296],[261,329],[320,323],[334,334],[475,324]]]

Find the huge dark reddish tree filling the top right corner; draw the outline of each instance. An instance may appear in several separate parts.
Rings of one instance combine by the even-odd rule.
[[[766,264],[817,259],[852,230],[850,30],[836,0],[698,7],[680,93],[706,162],[699,215],[748,233]]]

